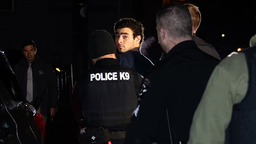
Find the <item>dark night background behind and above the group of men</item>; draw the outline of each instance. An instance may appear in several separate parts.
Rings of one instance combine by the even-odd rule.
[[[256,0],[0,0],[0,46],[10,65],[22,57],[21,43],[32,39],[38,58],[61,70],[55,70],[60,90],[55,126],[47,129],[52,143],[72,143],[75,139],[71,89],[90,64],[88,36],[96,29],[114,34],[115,21],[133,17],[145,27],[141,52],[156,63],[162,51],[157,43],[155,15],[170,2],[199,7],[201,23],[196,34],[211,43],[221,58],[238,47],[249,46],[250,37],[256,34]]]

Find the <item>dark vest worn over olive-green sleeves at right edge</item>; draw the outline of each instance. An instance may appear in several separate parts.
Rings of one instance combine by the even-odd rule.
[[[233,106],[225,144],[256,143],[256,46],[242,52],[248,67],[248,89],[245,98]]]

